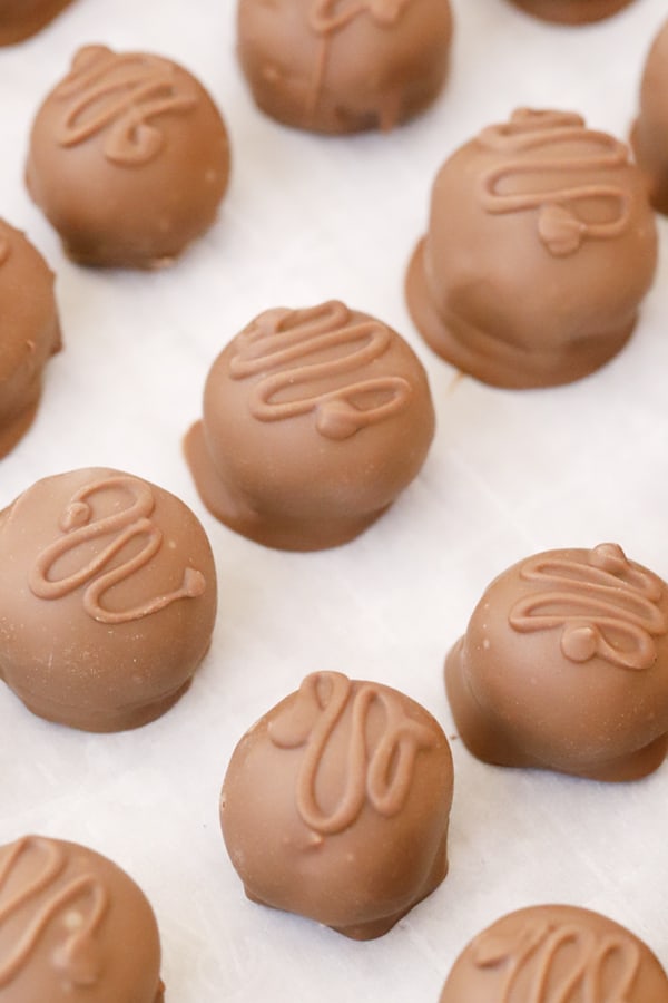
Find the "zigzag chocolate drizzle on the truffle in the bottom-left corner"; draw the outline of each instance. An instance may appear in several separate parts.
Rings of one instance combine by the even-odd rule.
[[[36,856],[37,867],[32,864]],[[8,848],[0,865],[0,931],[17,915],[22,917],[22,931],[7,955],[0,957],[0,990],[30,963],[57,917],[62,939],[49,961],[63,985],[92,985],[98,981],[100,964],[95,937],[109,895],[91,874],[62,883],[66,866],[62,847],[49,839],[27,836]],[[10,884],[19,887],[8,895]]]

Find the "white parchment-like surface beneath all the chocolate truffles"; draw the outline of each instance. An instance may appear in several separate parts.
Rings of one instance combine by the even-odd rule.
[[[0,465],[0,508],[33,480],[116,466],[202,518],[220,590],[209,655],[188,694],[135,732],[89,736],[32,717],[0,689],[0,841],[37,831],[107,854],[156,911],[168,1003],[438,999],[455,955],[500,914],[540,902],[600,909],[668,966],[668,765],[605,786],[477,762],[456,740],[442,661],[488,582],[536,551],[619,542],[668,576],[668,276],[628,348],[556,390],[455,380],[403,301],[407,257],[441,162],[517,106],[572,108],[626,136],[665,0],[558,28],[505,0],[459,0],[449,86],[389,136],[324,138],[253,106],[234,53],[233,0],[77,0],[0,51],[0,213],[58,274],[65,351],[38,420]],[[79,45],[171,56],[223,109],[232,186],[217,224],[171,270],[68,263],[22,184],[31,116]],[[668,224],[659,221],[665,249]],[[418,480],[375,526],[321,554],[262,548],[202,506],[180,454],[208,367],[259,311],[328,298],[387,321],[424,361],[438,435]],[[227,859],[218,792],[229,754],[314,670],[395,685],[454,737],[445,883],[390,934],[353,943],[253,905]]]

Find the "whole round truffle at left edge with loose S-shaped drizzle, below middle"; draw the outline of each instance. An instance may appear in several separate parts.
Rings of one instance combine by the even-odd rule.
[[[204,529],[163,488],[73,470],[0,514],[0,678],[49,721],[153,721],[188,688],[215,615]]]

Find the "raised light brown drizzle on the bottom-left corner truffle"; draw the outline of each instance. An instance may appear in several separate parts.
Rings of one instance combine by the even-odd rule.
[[[0,894],[12,874],[19,870],[21,859],[24,859],[30,850],[41,854],[43,864],[32,880],[23,884],[8,902],[0,903],[0,929],[3,923],[28,906],[36,896],[47,889],[51,892],[43,904],[33,904],[32,918],[28,919],[9,956],[0,960],[0,989],[16,978],[29,962],[40,937],[58,913],[84,895],[91,898],[89,915],[81,926],[65,937],[65,943],[55,952],[51,963],[75,984],[89,985],[97,981],[98,975],[91,941],[108,907],[109,895],[102,884],[90,874],[73,878],[59,890],[52,890],[53,884],[66,866],[65,853],[51,840],[37,836],[26,836],[9,848],[0,868]]]

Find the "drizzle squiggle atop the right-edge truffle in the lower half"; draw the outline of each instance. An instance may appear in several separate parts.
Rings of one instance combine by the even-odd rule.
[[[562,626],[561,651],[572,662],[599,655],[625,669],[649,669],[654,663],[654,637],[668,632],[668,617],[657,605],[661,583],[627,561],[621,547],[600,544],[584,562],[533,558],[520,574],[525,581],[547,583],[548,590],[513,605],[509,622],[515,631]],[[611,644],[606,631],[615,631],[628,646]]]

